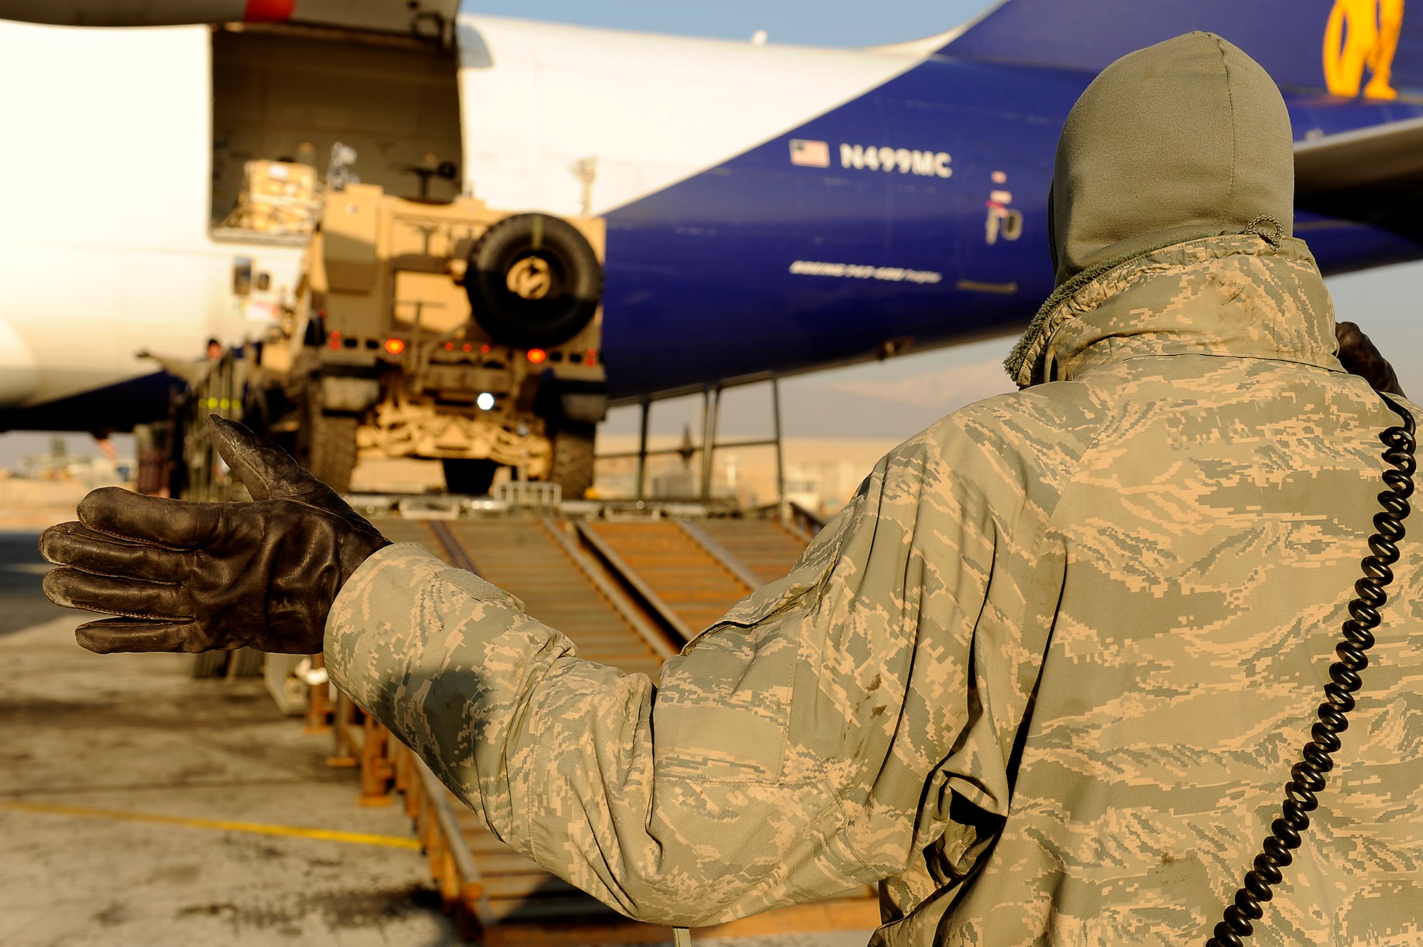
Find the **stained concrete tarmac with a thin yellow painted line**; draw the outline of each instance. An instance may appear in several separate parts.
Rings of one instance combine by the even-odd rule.
[[[202,828],[413,838],[398,805],[356,805],[330,738],[260,680],[80,648],[85,616],[40,593],[36,539],[0,535],[0,944],[460,943],[418,850]]]

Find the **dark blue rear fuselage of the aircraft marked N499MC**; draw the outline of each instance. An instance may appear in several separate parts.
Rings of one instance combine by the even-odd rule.
[[[794,131],[608,213],[610,394],[1020,328],[1053,289],[1053,155],[1091,78],[929,57]],[[1285,98],[1296,139],[1423,115],[1423,107],[1402,102]],[[828,166],[794,161],[793,142],[808,142],[801,162]],[[879,155],[894,155],[888,168]],[[1319,215],[1301,212],[1295,229],[1325,273],[1423,256],[1403,236]]]

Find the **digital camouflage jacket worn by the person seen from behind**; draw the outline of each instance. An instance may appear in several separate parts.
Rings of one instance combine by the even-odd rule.
[[[656,684],[414,546],[342,592],[332,678],[633,917],[882,879],[875,943],[1201,943],[1308,739],[1396,421],[1278,243],[1191,240],[1072,293],[1025,368],[1053,381],[894,449]],[[1423,930],[1423,540],[1403,550],[1258,944]]]

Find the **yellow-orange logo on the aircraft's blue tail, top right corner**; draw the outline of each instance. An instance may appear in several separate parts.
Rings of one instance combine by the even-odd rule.
[[[1335,95],[1393,100],[1393,54],[1403,28],[1403,0],[1335,0],[1325,26],[1325,85]]]

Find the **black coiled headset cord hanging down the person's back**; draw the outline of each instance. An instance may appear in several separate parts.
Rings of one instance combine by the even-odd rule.
[[[1343,623],[1343,640],[1335,646],[1339,660],[1329,665],[1331,683],[1325,685],[1326,702],[1319,705],[1319,722],[1311,729],[1313,739],[1305,745],[1303,759],[1289,771],[1285,783],[1285,802],[1281,816],[1271,823],[1271,835],[1255,856],[1254,869],[1245,873],[1245,886],[1235,892],[1235,903],[1225,909],[1225,916],[1215,926],[1214,937],[1207,947],[1242,947],[1242,937],[1249,937],[1255,929],[1251,921],[1264,916],[1261,901],[1274,897],[1271,886],[1284,877],[1279,872],[1294,860],[1291,852],[1299,847],[1301,833],[1309,828],[1309,813],[1319,808],[1316,793],[1325,788],[1325,774],[1333,769],[1331,754],[1342,745],[1339,734],[1349,728],[1345,717],[1353,710],[1353,692],[1362,685],[1359,671],[1369,665],[1365,651],[1373,647],[1373,628],[1379,627],[1379,609],[1389,596],[1383,587],[1393,582],[1389,567],[1399,560],[1399,540],[1403,539],[1403,520],[1409,515],[1409,496],[1413,495],[1413,471],[1416,462],[1414,424],[1407,408],[1389,395],[1380,394],[1400,418],[1403,427],[1387,428],[1379,435],[1385,444],[1383,459],[1393,468],[1383,472],[1386,491],[1379,493],[1383,512],[1375,515],[1373,526],[1379,532],[1369,537],[1370,555],[1363,557],[1363,579],[1353,584],[1359,597],[1349,603],[1349,619]]]

